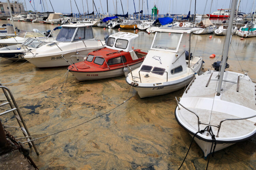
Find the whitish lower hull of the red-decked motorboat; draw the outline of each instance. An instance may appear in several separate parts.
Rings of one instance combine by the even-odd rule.
[[[139,68],[143,61],[140,63],[130,65],[131,70]],[[118,77],[124,75],[123,71],[124,67],[115,69],[115,70],[108,70],[108,71],[101,71],[101,72],[79,72],[79,71],[70,71],[77,80],[79,81],[86,81],[86,80],[99,80],[99,79],[107,79],[112,77]]]

